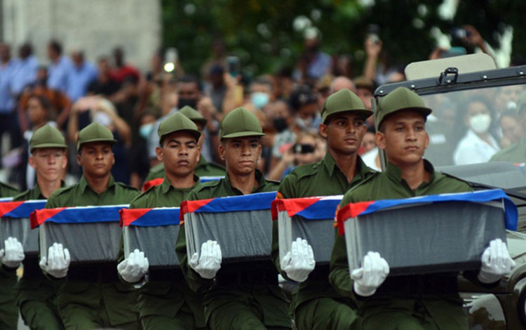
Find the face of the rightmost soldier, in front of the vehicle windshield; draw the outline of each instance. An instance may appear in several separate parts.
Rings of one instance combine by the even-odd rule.
[[[429,146],[425,125],[422,114],[410,110],[396,112],[382,122],[382,130],[375,136],[376,144],[385,150],[391,163],[415,164]]]

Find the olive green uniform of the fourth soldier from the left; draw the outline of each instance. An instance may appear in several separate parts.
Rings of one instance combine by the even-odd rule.
[[[266,180],[256,170],[259,185],[252,190],[272,192],[278,183]],[[190,193],[189,200],[239,196],[243,193],[231,186],[229,176],[203,183]],[[269,219],[270,220],[270,219]],[[278,272],[271,260],[255,263],[222,265],[214,280],[202,279],[188,265],[184,224],[177,238],[177,257],[191,289],[204,292],[205,319],[212,329],[290,328],[288,300],[278,286]]]

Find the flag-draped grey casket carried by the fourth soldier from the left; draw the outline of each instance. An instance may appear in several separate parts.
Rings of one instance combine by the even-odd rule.
[[[221,246],[224,263],[270,257],[271,203],[276,192],[221,197],[181,204],[189,257],[208,240]]]

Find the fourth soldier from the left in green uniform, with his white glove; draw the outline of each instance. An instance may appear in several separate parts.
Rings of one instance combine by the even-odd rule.
[[[276,191],[278,183],[266,180],[256,169],[262,149],[259,138],[263,135],[261,124],[248,110],[237,108],[229,112],[222,121],[219,150],[227,164],[227,176],[196,187],[189,199]],[[181,227],[177,256],[181,267],[186,268],[191,289],[209,289],[203,301],[208,327],[290,329],[289,304],[278,286],[278,272],[271,260],[221,266],[219,244],[209,241],[203,245],[207,246],[201,249],[201,256],[196,253],[188,259]]]

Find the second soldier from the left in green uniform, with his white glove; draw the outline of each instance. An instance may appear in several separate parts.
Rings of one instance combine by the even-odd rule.
[[[79,183],[60,188],[48,199],[46,208],[129,204],[139,192],[115,182],[110,171],[115,162],[111,131],[93,123],[79,132],[77,163],[82,167]],[[67,246],[66,246],[67,247]],[[55,304],[66,329],[94,329],[115,326],[140,329],[136,308],[137,291],[117,275],[116,263],[92,263],[69,268],[69,251],[62,244],[50,247],[40,267],[51,277],[67,280],[60,287]]]

